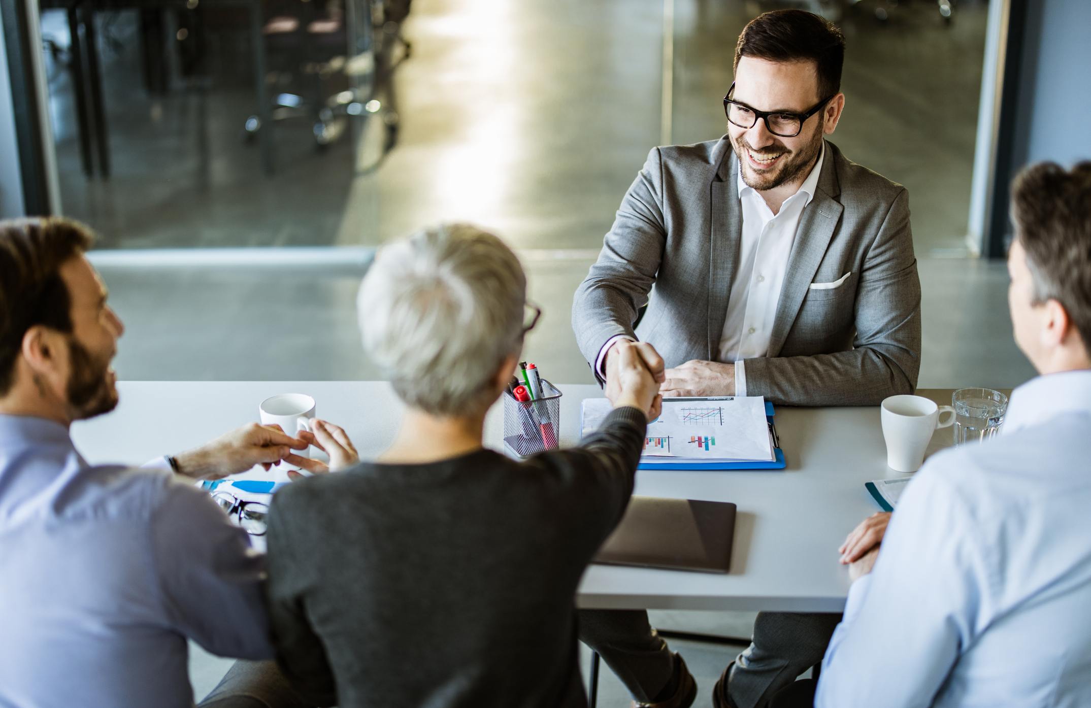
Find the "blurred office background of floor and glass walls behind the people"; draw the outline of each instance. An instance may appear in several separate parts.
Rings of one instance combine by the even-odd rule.
[[[1007,184],[1091,157],[1082,0],[2,0],[0,215],[64,214],[128,324],[130,380],[380,379],[355,295],[439,220],[518,249],[527,356],[589,383],[572,293],[650,147],[719,137],[734,43],[817,10],[848,43],[832,136],[903,183],[921,386],[1011,387]],[[745,615],[659,614],[745,637]],[[738,646],[682,644],[711,687]],[[223,663],[194,655],[203,694]],[[623,705],[604,679],[600,705]]]

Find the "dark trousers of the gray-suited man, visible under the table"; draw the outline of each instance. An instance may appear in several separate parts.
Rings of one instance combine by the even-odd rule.
[[[759,612],[751,646],[731,669],[727,697],[758,708],[822,661],[840,614]],[[667,643],[643,610],[580,610],[579,638],[599,652],[638,701],[651,701],[674,670]]]

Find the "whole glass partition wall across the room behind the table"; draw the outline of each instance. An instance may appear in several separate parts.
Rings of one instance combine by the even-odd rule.
[[[848,40],[846,155],[964,255],[985,0],[29,0],[60,212],[105,249],[374,245],[442,219],[594,252],[647,151],[715,140],[735,38]]]

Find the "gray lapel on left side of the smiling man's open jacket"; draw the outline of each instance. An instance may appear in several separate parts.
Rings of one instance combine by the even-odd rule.
[[[739,242],[742,239],[743,216],[739,203],[738,161],[730,143],[724,140],[724,155],[717,164],[711,182],[711,227],[708,257],[708,352],[706,358],[716,361],[728,316],[728,296],[731,279],[739,267]]]

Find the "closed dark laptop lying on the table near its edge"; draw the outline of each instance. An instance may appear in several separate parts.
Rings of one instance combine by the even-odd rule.
[[[634,496],[592,563],[727,573],[735,505]]]

